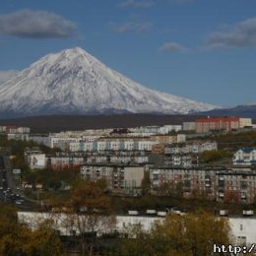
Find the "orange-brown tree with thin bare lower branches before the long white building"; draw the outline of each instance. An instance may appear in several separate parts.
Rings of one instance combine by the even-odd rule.
[[[110,212],[110,199],[104,194],[106,183],[83,180],[72,191],[66,202],[56,202],[63,215],[62,225],[79,234],[82,255],[93,255],[96,233],[115,226]]]

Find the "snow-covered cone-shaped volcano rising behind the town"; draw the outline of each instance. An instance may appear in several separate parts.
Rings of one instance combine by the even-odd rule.
[[[149,90],[76,47],[48,54],[0,87],[7,115],[189,113],[216,106]]]

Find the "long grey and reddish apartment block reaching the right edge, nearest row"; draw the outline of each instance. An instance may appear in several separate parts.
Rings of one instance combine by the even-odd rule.
[[[151,167],[153,190],[164,184],[184,197],[200,193],[219,202],[252,204],[256,200],[256,171],[215,168]]]

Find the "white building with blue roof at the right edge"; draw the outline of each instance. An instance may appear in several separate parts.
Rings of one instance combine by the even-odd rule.
[[[234,165],[255,165],[256,148],[243,148],[237,150],[233,155]]]

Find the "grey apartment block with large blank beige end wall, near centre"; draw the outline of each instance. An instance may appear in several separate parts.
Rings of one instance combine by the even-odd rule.
[[[105,179],[108,189],[140,189],[144,178],[145,165],[139,164],[84,164],[80,168],[82,178]]]

